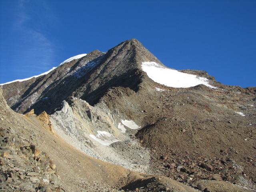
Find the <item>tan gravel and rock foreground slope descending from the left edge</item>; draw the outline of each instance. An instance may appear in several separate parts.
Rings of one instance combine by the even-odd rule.
[[[109,191],[149,180],[156,190],[195,192],[169,178],[131,172],[86,156],[50,130],[43,116],[12,111],[0,88],[0,188],[2,191]],[[146,188],[146,186],[144,187]]]

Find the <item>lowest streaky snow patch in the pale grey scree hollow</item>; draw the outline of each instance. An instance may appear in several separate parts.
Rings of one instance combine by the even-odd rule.
[[[110,144],[119,141],[118,139],[116,139],[114,137],[114,135],[112,135],[106,131],[97,131],[97,132],[98,132],[98,134],[96,136],[90,134],[90,137],[102,145],[109,146]]]

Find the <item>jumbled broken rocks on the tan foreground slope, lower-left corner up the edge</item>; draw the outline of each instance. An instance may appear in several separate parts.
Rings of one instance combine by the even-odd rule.
[[[38,149],[36,135],[22,134],[22,122],[8,110],[0,89],[0,188],[1,191],[64,191],[56,165],[48,154]],[[17,114],[17,116],[21,116]]]

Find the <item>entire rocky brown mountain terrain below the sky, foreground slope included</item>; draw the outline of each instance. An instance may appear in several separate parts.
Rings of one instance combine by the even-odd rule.
[[[0,85],[1,191],[256,191],[256,87],[138,40]]]

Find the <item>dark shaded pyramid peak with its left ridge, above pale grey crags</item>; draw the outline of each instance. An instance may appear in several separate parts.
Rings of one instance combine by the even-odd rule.
[[[17,112],[28,112],[34,108],[36,113],[43,110],[50,113],[69,96],[95,104],[111,86],[137,90],[141,77],[136,71],[143,60],[159,62],[140,42],[133,39],[122,42],[106,54],[98,50],[90,52],[44,76],[15,82],[15,85],[5,84],[4,97]]]

